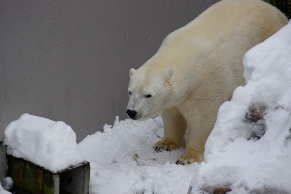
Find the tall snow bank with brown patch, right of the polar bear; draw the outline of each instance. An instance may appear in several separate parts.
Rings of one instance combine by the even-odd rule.
[[[243,63],[247,85],[220,107],[192,194],[291,193],[291,22]]]

